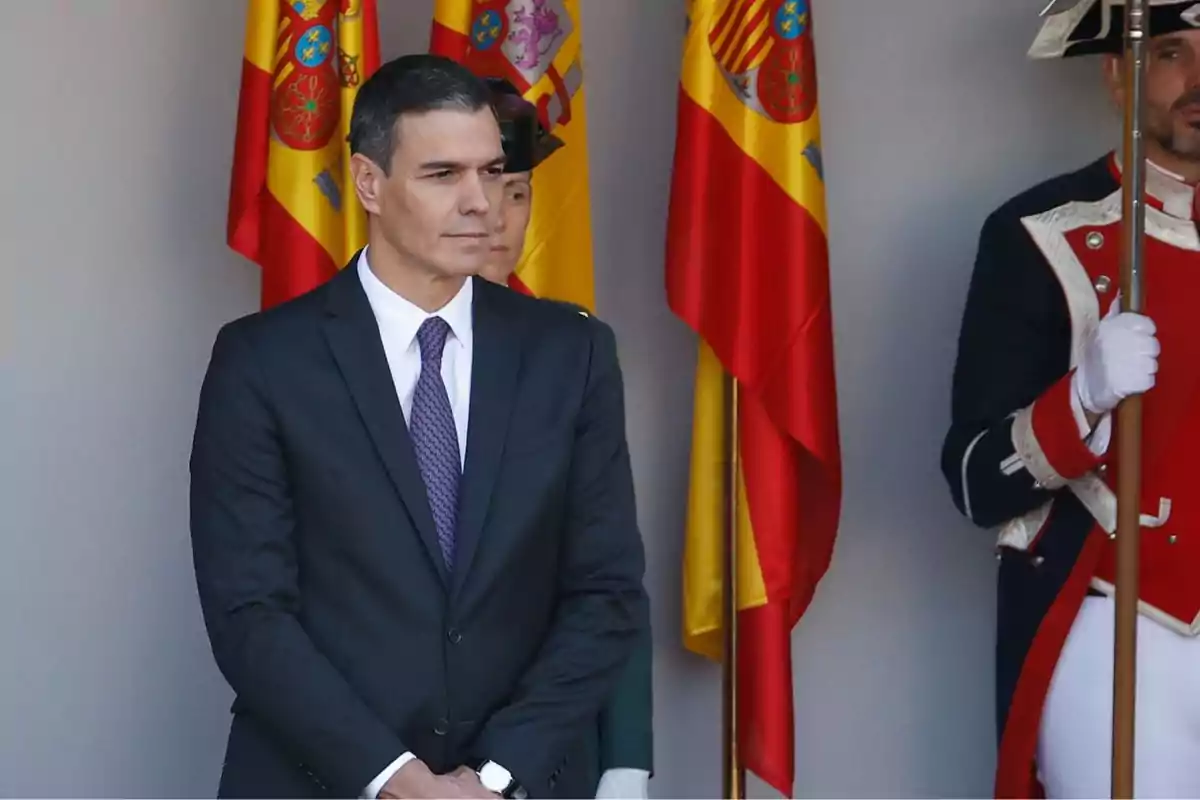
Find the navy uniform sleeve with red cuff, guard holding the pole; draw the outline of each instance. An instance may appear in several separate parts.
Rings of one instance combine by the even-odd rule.
[[[942,473],[983,528],[1043,505],[1097,458],[1070,408],[1070,315],[1016,213],[992,213],[967,293]]]

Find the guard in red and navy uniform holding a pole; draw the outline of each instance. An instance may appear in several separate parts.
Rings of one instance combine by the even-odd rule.
[[[1030,55],[1097,56],[1124,104],[1121,0],[1050,14]],[[1200,796],[1200,2],[1150,0],[1145,299],[1118,307],[1117,151],[983,225],[942,469],[998,529],[997,796],[1109,796],[1117,404],[1142,395],[1135,794]],[[1118,126],[1114,125],[1114,131]]]

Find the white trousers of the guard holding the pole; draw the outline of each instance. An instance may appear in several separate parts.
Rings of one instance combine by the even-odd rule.
[[[1088,596],[1055,668],[1038,736],[1048,798],[1111,796],[1115,604]],[[1200,637],[1138,616],[1134,796],[1200,798]]]

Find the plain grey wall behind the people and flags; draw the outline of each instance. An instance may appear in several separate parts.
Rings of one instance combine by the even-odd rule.
[[[817,0],[845,459],[794,637],[797,794],[989,795],[990,536],[937,470],[989,209],[1120,142],[1042,0]],[[0,26],[0,794],[205,796],[230,694],[200,625],[187,451],[217,326],[241,0],[6,4]],[[430,0],[380,0],[385,55]],[[679,645],[695,343],[665,306],[682,0],[584,0],[599,306],[628,378],[656,625],[658,796],[719,792],[719,672]],[[768,796],[751,782],[755,795]]]

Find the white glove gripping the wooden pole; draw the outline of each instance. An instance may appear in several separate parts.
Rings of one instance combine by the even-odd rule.
[[[1085,409],[1108,414],[1126,397],[1146,392],[1154,385],[1160,350],[1156,330],[1150,317],[1122,313],[1120,297],[1112,301],[1109,313],[1084,343],[1072,378]]]

